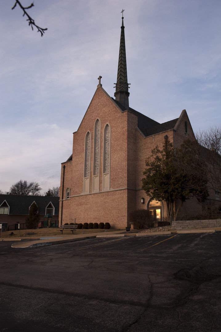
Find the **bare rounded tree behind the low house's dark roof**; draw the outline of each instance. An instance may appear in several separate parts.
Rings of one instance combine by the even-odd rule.
[[[42,188],[37,182],[28,183],[26,180],[20,180],[10,188],[11,195],[31,195],[38,196]]]

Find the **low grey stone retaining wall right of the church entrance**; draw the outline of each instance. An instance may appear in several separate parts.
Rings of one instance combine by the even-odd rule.
[[[221,219],[178,220],[172,222],[171,230],[221,227]]]

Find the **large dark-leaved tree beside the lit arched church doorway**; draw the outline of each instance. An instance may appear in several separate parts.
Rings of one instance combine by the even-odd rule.
[[[166,202],[170,223],[175,220],[182,204],[196,197],[203,202],[208,197],[207,173],[199,155],[192,151],[197,142],[186,140],[180,148],[174,149],[170,141],[165,142],[163,149],[156,146],[146,160],[143,172],[143,189],[153,199]]]

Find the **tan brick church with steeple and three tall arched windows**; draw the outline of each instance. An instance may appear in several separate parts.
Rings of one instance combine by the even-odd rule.
[[[78,223],[109,222],[111,227],[125,229],[130,212],[141,208],[151,209],[158,221],[166,220],[166,204],[142,190],[145,160],[167,139],[176,147],[194,138],[185,110],[177,119],[160,124],[129,106],[123,19],[115,99],[103,89],[99,76],[94,96],[73,133],[72,154],[61,164],[59,224],[76,218]]]

